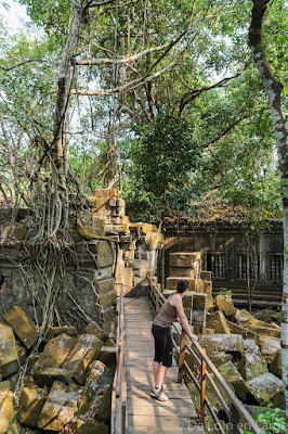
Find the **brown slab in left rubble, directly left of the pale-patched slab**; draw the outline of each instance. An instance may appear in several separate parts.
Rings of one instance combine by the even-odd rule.
[[[67,334],[60,334],[50,340],[37,361],[36,371],[44,371],[48,368],[60,368],[70,354],[75,344],[75,339]]]

